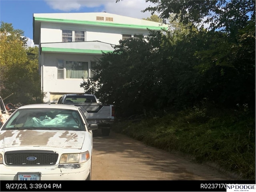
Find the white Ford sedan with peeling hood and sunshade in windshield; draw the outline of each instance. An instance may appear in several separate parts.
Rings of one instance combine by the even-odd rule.
[[[18,108],[0,129],[0,180],[91,180],[97,128],[78,106]]]

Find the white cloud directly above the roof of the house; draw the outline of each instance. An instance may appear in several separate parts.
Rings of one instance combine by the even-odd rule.
[[[128,16],[133,18],[147,18],[150,12],[142,13],[150,3],[145,0],[123,0],[116,3],[116,0],[45,0],[55,10],[64,12],[79,11],[82,8],[95,8],[96,12],[106,11],[112,14]],[[102,8],[103,7],[103,8]],[[102,10],[100,10],[102,9]]]

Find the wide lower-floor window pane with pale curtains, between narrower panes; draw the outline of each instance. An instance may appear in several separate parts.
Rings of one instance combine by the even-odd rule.
[[[88,62],[66,61],[66,78],[88,78]]]

